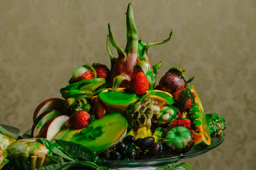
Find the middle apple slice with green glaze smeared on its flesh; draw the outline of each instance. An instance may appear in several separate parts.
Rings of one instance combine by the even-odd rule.
[[[60,112],[59,110],[55,110],[55,109],[46,110],[43,113],[41,113],[40,115],[38,115],[36,117],[36,119],[34,120],[34,123],[31,128],[32,138],[38,137],[38,133],[46,121],[48,121],[49,119],[51,119],[53,117],[60,116],[60,115],[63,115],[63,113]]]

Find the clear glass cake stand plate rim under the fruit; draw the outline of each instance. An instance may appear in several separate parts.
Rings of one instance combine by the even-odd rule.
[[[116,167],[116,168],[139,167],[139,166],[164,166],[170,163],[176,163],[180,160],[193,158],[203,153],[209,152],[212,149],[219,146],[224,141],[224,138],[225,138],[225,135],[223,135],[221,138],[212,138],[211,145],[208,146],[207,148],[199,148],[199,146],[195,145],[187,153],[180,154],[174,157],[160,158],[160,159],[147,159],[147,160],[121,160],[121,161],[108,160],[108,161],[102,161],[102,165],[108,166],[108,167]]]

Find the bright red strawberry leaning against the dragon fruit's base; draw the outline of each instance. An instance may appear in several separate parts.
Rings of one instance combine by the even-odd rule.
[[[143,95],[149,88],[148,79],[144,73],[139,72],[132,77],[127,87],[136,95]]]

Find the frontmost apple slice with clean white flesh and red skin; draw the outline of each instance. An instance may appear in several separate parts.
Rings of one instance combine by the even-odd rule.
[[[47,140],[52,141],[54,136],[63,128],[63,126],[65,127],[68,118],[69,117],[66,115],[51,118],[42,126],[38,138],[46,138]]]

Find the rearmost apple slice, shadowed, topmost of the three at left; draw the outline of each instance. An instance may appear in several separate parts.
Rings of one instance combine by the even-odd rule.
[[[33,115],[33,122],[35,121],[36,117],[42,114],[46,110],[56,109],[64,112],[64,99],[61,98],[50,98],[45,100],[44,102],[40,103],[36,110],[34,111]]]

